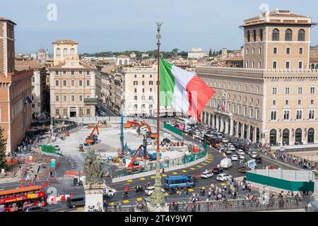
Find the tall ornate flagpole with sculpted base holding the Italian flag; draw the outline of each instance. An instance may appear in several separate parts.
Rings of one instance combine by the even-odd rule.
[[[157,84],[157,156],[156,156],[156,167],[155,167],[155,189],[153,194],[151,194],[151,204],[153,206],[163,206],[165,204],[165,199],[163,198],[163,194],[161,192],[161,175],[160,175],[160,27],[163,23],[157,24],[157,46],[158,46],[158,84]]]

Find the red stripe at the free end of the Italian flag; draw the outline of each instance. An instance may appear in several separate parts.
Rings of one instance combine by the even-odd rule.
[[[216,91],[206,85],[199,76],[194,76],[189,83],[187,83],[186,89],[189,97],[189,109],[187,114],[201,121],[199,116],[206,106],[206,102],[210,100]]]

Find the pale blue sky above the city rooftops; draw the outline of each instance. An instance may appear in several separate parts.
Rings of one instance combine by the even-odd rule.
[[[57,7],[56,20],[50,4]],[[17,24],[16,52],[35,53],[41,45],[52,52],[58,39],[76,40],[79,53],[147,51],[157,48],[155,22],[163,22],[163,50],[208,51],[240,49],[239,26],[257,16],[261,4],[318,22],[317,0],[1,0],[0,17]],[[318,27],[312,29],[317,44]]]

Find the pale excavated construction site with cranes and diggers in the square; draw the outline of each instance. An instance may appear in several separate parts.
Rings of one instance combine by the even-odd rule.
[[[75,171],[83,169],[86,150],[92,148],[110,169],[111,176],[116,177],[112,172],[117,169],[138,173],[155,167],[157,133],[154,131],[156,127],[146,121],[124,121],[123,118],[117,123],[98,121],[98,124],[82,124],[76,131],[67,136],[61,134],[47,145],[56,148],[57,154],[70,157],[75,162]],[[199,153],[201,149],[184,143],[169,131],[160,131],[160,157],[165,167],[169,163],[182,165],[185,156]]]

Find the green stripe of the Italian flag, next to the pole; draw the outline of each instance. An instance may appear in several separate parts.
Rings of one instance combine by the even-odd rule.
[[[173,90],[175,90],[175,76],[172,75],[173,64],[160,58],[160,106],[171,106]]]

